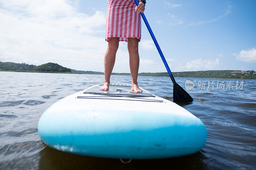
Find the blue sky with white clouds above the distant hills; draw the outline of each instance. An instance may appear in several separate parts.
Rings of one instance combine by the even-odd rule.
[[[172,72],[256,70],[255,0],[148,0]],[[104,72],[108,0],[0,0],[0,61]],[[166,72],[143,20],[139,72]],[[130,72],[120,42],[113,72]]]

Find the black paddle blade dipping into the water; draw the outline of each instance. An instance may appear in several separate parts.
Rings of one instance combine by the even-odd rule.
[[[180,87],[180,85],[176,83],[172,74],[170,77],[173,83],[173,101],[192,102],[193,98],[182,87]]]

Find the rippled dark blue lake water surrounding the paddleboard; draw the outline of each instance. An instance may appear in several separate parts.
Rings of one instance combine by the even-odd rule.
[[[157,160],[104,159],[60,152],[44,145],[37,132],[43,112],[56,101],[103,81],[103,75],[0,72],[0,169],[255,169],[256,81],[243,80],[243,88],[217,89],[227,79],[176,78],[195,83],[188,91],[194,101],[180,104],[200,118],[207,129],[204,148],[195,154]],[[112,82],[130,82],[129,76],[111,76]],[[197,89],[200,81],[205,88]],[[214,89],[208,81],[215,83]],[[212,82],[213,81],[213,82]],[[139,77],[139,85],[172,100],[168,77]],[[200,86],[201,87],[201,86]],[[168,168],[168,169],[169,169]]]

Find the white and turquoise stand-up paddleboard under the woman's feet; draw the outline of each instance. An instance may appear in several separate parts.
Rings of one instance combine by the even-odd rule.
[[[204,147],[204,123],[183,107],[131,85],[102,85],[65,97],[38,122],[44,143],[81,155],[157,159],[188,155]]]

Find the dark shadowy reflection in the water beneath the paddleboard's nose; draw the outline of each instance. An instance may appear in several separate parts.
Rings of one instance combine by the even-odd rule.
[[[40,169],[206,169],[202,159],[204,155],[197,152],[192,155],[170,159],[133,159],[123,164],[119,159],[96,158],[61,152],[50,147],[40,151]],[[127,161],[127,160],[126,160]],[[186,163],[184,163],[186,162]]]

